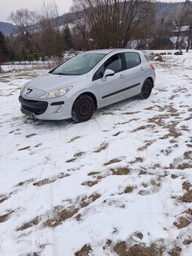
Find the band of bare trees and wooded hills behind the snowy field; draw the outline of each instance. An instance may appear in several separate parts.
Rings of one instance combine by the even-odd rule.
[[[175,45],[183,47],[181,27],[190,27],[187,49],[191,47],[192,3],[182,2],[172,10],[157,12],[152,0],[73,0],[71,14],[59,17],[56,2],[42,2],[38,11],[20,9],[10,14],[17,35],[0,32],[0,61],[62,59],[66,50],[127,47],[134,40],[138,49],[169,49],[172,31],[178,28]]]

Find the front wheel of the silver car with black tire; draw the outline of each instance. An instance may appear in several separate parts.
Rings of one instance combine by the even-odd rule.
[[[94,102],[90,96],[82,94],[75,99],[72,106],[72,119],[77,122],[85,122],[90,120],[94,111]]]

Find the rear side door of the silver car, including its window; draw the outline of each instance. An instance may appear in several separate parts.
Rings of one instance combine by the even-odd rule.
[[[141,92],[145,66],[136,52],[124,53],[126,60],[126,97],[136,96]]]

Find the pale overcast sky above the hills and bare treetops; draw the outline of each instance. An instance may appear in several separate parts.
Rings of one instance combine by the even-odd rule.
[[[44,2],[50,1],[44,0]],[[183,0],[169,0],[167,2],[183,2]],[[59,7],[59,14],[68,12],[69,8],[72,6],[72,0],[56,0],[56,3]],[[41,0],[0,0],[0,21],[9,22],[8,17],[11,11],[16,11],[20,8],[35,11],[39,5],[41,5]]]

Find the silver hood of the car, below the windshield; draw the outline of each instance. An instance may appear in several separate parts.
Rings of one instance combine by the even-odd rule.
[[[47,92],[59,87],[74,85],[85,79],[87,79],[87,75],[53,75],[48,73],[30,81],[27,87]]]

